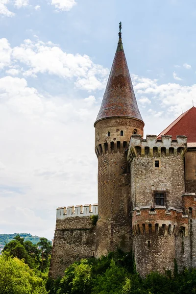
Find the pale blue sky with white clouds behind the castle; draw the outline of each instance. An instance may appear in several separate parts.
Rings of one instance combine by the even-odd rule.
[[[97,203],[94,122],[122,22],[145,134],[196,106],[195,0],[0,0],[0,233]],[[183,135],[183,134],[179,134]]]

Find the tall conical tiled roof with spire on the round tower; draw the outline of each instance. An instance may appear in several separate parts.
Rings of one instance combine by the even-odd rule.
[[[119,43],[95,124],[113,117],[133,118],[143,122],[124,54],[121,27]]]

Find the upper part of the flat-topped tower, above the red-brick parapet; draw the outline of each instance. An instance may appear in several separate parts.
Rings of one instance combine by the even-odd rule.
[[[154,192],[165,192],[165,205],[181,208],[185,192],[184,159],[186,137],[172,141],[171,136],[156,140],[156,136],[131,137],[128,160],[131,165],[131,202],[133,208],[155,205]],[[159,167],[155,166],[158,161]]]

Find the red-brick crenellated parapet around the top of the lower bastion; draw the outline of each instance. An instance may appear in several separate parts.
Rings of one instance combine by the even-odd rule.
[[[134,235],[188,236],[189,216],[174,207],[149,206],[136,207],[133,210],[132,227]]]

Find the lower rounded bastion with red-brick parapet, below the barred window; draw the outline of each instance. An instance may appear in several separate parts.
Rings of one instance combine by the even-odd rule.
[[[155,211],[150,211],[143,206],[134,209],[132,224],[137,271],[146,276],[154,270],[173,270],[176,238],[181,231],[185,239],[189,234],[188,216],[174,208],[155,206]]]

